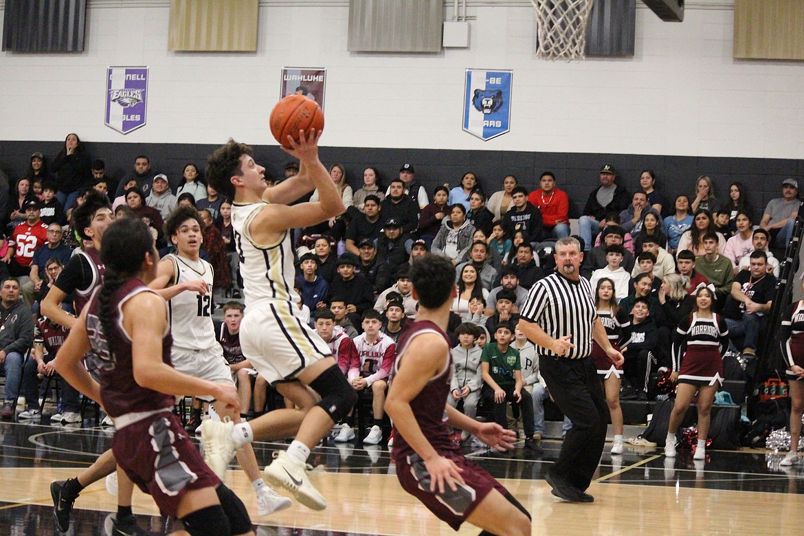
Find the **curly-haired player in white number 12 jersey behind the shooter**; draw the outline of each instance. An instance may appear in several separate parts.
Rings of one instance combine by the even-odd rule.
[[[156,279],[148,286],[169,301],[170,331],[173,333],[170,362],[174,368],[195,378],[234,385],[224,350],[215,339],[213,270],[211,264],[199,257],[202,229],[201,217],[192,207],[180,207],[170,214],[165,222],[165,235],[176,247],[176,253],[170,253],[159,261]],[[233,412],[231,406],[209,397],[199,399],[212,403],[221,418],[240,422],[240,415]],[[270,489],[260,477],[260,467],[250,444],[237,453],[237,461],[252,483],[260,516],[289,508],[290,499]]]

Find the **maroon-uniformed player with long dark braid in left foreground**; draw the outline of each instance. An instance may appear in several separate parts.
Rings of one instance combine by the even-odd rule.
[[[159,254],[146,224],[122,219],[105,232],[104,283],[56,356],[56,370],[102,403],[117,428],[112,449],[128,477],[191,536],[254,534],[243,503],[203,460],[178,418],[175,395],[209,395],[237,407],[232,383],[192,378],[170,366],[170,325],[162,297],[146,287]],[[84,368],[92,350],[100,382]]]

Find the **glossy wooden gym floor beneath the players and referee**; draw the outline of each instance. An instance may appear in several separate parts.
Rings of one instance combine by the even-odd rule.
[[[87,423],[88,425],[88,423]],[[73,425],[76,426],[77,425]],[[75,476],[111,442],[111,430],[23,423],[0,424],[0,535],[59,534],[52,522],[51,481]],[[260,465],[286,444],[255,444]],[[654,449],[631,448],[612,456],[606,446],[589,489],[593,504],[558,501],[544,481],[560,442],[544,440],[540,452],[476,452],[478,463],[497,477],[531,512],[533,534],[801,534],[804,468],[779,468],[781,455],[764,451],[709,452],[705,463],[679,450],[675,460]],[[338,444],[316,448],[312,480],[329,501],[314,512],[292,508],[259,518],[251,485],[232,466],[227,485],[243,499],[256,534],[453,534],[400,489],[395,466],[382,446]],[[284,492],[283,492],[284,493]],[[103,481],[76,501],[68,534],[105,534],[117,509]],[[140,526],[163,534],[150,497],[134,492]],[[178,526],[178,525],[177,525]],[[464,526],[459,534],[477,534]]]

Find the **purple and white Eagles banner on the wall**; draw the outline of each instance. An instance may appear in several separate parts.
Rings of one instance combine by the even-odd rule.
[[[128,134],[146,124],[147,67],[106,70],[106,126]]]

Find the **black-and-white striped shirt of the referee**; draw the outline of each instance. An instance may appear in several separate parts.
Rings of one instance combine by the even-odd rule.
[[[536,346],[539,355],[579,359],[592,354],[592,332],[597,318],[592,296],[592,284],[585,277],[574,281],[553,272],[533,284],[519,316],[538,325],[552,338],[572,335],[570,342],[575,345],[563,356]]]

